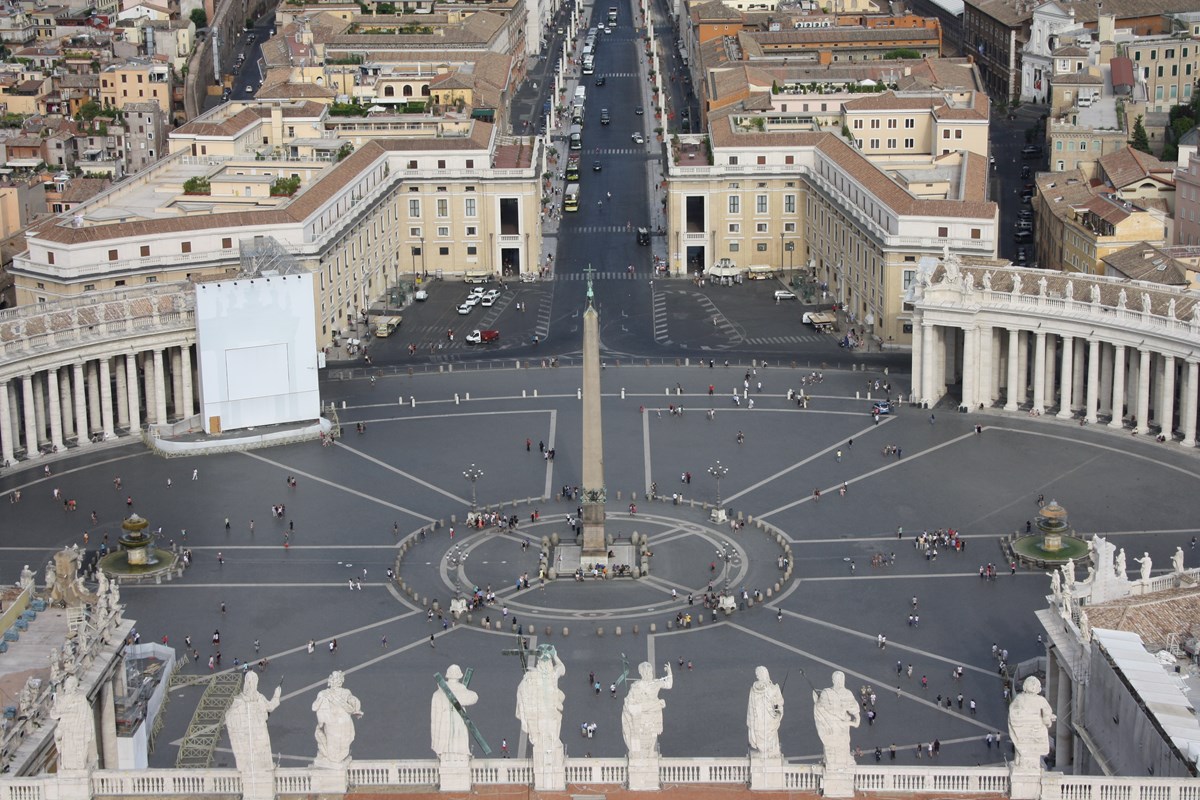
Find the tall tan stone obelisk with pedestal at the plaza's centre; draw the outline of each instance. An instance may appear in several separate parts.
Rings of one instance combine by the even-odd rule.
[[[584,566],[608,563],[604,535],[604,433],[600,427],[600,312],[588,273],[588,307],[583,312],[583,552]]]

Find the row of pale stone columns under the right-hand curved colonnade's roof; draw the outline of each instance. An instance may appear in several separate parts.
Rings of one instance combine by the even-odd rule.
[[[956,387],[967,410],[1104,419],[1114,428],[1177,433],[1184,446],[1196,444],[1200,356],[1194,354],[1163,353],[1145,341],[928,319],[913,329],[913,391],[928,405]]]

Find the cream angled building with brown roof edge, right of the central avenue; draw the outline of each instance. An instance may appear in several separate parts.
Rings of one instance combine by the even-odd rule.
[[[998,211],[988,161],[968,150],[884,167],[793,115],[728,108],[702,137],[670,148],[671,269],[719,259],[739,269],[805,271],[829,285],[847,320],[911,344],[904,306],[922,257],[996,255]]]

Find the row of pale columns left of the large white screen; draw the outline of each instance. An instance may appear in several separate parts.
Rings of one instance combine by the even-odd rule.
[[[70,351],[62,355],[70,355]],[[0,378],[0,462],[85,447],[198,410],[191,344],[128,350]]]

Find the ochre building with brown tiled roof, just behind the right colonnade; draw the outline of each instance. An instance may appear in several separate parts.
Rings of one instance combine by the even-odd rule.
[[[1037,176],[1038,265],[1062,272],[1104,275],[1103,260],[1127,247],[1170,242],[1170,217],[1160,209],[1093,187],[1079,170]]]

